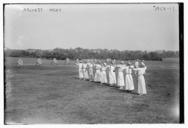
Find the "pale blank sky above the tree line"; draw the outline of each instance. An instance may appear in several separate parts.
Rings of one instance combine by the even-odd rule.
[[[178,50],[178,29],[176,4],[5,6],[6,48]]]

